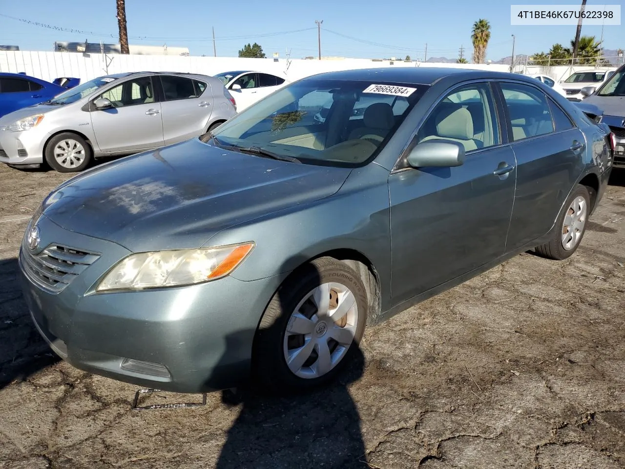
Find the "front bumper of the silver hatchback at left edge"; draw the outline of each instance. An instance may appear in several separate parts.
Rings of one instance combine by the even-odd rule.
[[[21,132],[0,128],[0,163],[16,166],[43,163],[44,144],[50,134],[38,127]]]

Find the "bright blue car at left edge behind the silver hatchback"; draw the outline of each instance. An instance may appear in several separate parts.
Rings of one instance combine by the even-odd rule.
[[[17,109],[54,98],[65,89],[24,73],[0,73],[0,118]]]

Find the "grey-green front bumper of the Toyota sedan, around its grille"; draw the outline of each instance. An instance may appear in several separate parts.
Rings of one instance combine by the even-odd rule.
[[[254,335],[276,278],[227,276],[180,288],[94,293],[99,278],[129,251],[67,231],[45,216],[37,226],[41,246],[63,240],[99,253],[55,292],[34,278],[27,267],[31,251],[22,244],[24,298],[37,330],[61,358],[98,375],[182,393],[232,388],[248,378]],[[123,368],[124,360],[158,364],[161,371]]]

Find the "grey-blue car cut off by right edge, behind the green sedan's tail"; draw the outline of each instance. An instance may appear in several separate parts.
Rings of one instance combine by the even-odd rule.
[[[587,96],[584,104],[601,109],[601,123],[607,124],[614,134],[614,166],[625,168],[625,65],[621,65],[611,78],[597,88],[582,88]]]

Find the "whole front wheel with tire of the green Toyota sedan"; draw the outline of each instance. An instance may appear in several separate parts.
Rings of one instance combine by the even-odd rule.
[[[354,358],[368,314],[356,271],[319,258],[277,290],[254,340],[254,375],[274,391],[304,391],[332,380]]]

